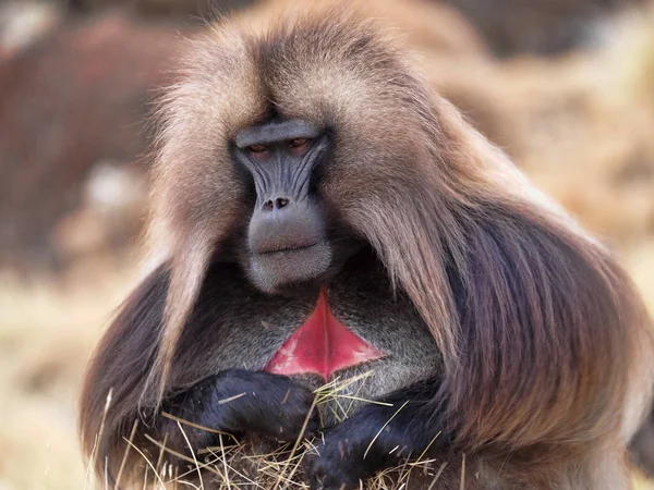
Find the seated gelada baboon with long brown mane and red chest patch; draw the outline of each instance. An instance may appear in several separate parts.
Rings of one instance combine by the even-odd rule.
[[[154,169],[168,255],[82,395],[100,476],[143,485],[126,440],[155,461],[153,441],[218,446],[166,413],[241,441],[319,432],[312,489],[427,450],[440,489],[628,488],[653,385],[637,293],[411,60],[351,2],[194,45]],[[346,419],[311,411],[336,376],[358,377]]]

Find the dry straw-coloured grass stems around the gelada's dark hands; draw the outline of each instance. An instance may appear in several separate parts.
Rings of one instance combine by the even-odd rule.
[[[343,414],[342,419],[344,419],[350,412],[350,406],[353,401],[379,403],[344,394],[348,392],[348,388],[353,384],[361,387],[361,381],[365,381],[365,378],[371,373],[372,372],[368,371],[346,380],[337,378],[317,389],[314,392],[315,402],[312,405],[304,426],[294,443],[287,443],[271,451],[261,451],[250,443],[233,440],[227,433],[192,424],[169,414],[164,414],[166,417],[177,421],[178,428],[184,436],[186,442],[189,442],[189,439],[186,438],[185,429],[192,427],[194,429],[217,433],[219,436],[219,445],[202,449],[191,448],[189,445],[189,454],[191,454],[191,456],[189,456],[187,454],[181,454],[167,448],[165,440],[156,441],[148,437],[149,441],[159,448],[159,453],[155,460],[148,458],[132,443],[132,439],[129,439],[123,461],[126,460],[128,453],[132,451],[138,452],[143,457],[143,486],[146,487],[152,485],[157,490],[178,489],[189,486],[201,489],[210,488],[211,490],[251,489],[253,486],[263,490],[308,490],[308,486],[304,480],[302,462],[307,455],[318,454],[316,445],[320,442],[319,438],[304,439],[304,432],[311,415],[314,411],[319,411],[322,407],[328,407],[335,414]],[[229,403],[229,401],[230,400],[226,400],[225,402]],[[403,406],[404,405],[399,406],[396,414],[399,413]],[[110,396],[106,409],[111,409]],[[395,415],[391,416],[388,421],[390,421],[392,417],[395,417]],[[382,433],[385,427],[386,426],[379,428],[378,434]],[[134,430],[135,429],[136,425],[134,426]],[[134,430],[132,431],[132,437]],[[374,444],[375,439],[376,438],[371,442],[371,446]],[[370,490],[403,489],[409,486],[412,478],[417,474],[420,474],[421,478],[427,478],[429,485],[435,487],[446,467],[446,463],[426,458],[425,454],[427,451],[428,448],[414,461],[404,463],[395,468],[388,468],[378,474],[367,482],[366,488]],[[171,466],[167,461],[168,457],[174,457],[186,462],[186,469],[182,473],[179,473],[178,469],[172,471]],[[93,458],[90,464],[93,464]],[[122,476],[122,470],[119,470],[117,477],[118,482],[120,482]],[[101,483],[99,485],[101,486]],[[93,490],[97,486],[98,483],[94,481],[90,471],[88,471],[85,488]]]

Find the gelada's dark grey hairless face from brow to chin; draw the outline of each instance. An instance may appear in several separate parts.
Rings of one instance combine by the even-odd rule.
[[[316,191],[330,147],[326,131],[298,119],[274,119],[235,137],[232,155],[256,192],[245,270],[264,292],[319,283],[356,249],[354,241],[335,238]]]

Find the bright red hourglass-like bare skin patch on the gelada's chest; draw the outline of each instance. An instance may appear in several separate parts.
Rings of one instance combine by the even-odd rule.
[[[336,371],[382,357],[384,353],[334,318],[327,294],[320,291],[314,313],[277,351],[265,370],[276,375],[313,372],[329,380]]]

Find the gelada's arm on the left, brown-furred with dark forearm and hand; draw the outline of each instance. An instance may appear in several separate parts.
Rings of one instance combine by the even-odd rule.
[[[178,387],[174,394],[156,403],[146,380],[156,355],[167,287],[168,270],[161,266],[122,305],[88,370],[82,395],[82,437],[87,454],[96,454],[99,469],[104,473],[107,460],[109,477],[116,476],[135,424],[131,442],[155,461],[157,443],[166,440],[167,448],[189,454],[189,445],[197,450],[218,443],[216,430],[295,440],[314,395],[286,376],[227,369],[207,373],[191,387]],[[183,422],[179,426],[165,414],[214,432]],[[312,433],[317,425],[316,413],[305,432]],[[133,457],[128,463],[132,470],[138,461]]]

